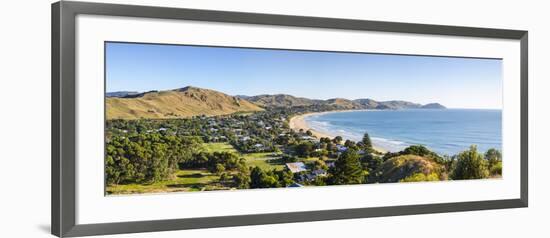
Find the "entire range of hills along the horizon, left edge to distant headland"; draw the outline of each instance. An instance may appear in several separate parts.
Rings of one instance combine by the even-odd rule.
[[[425,105],[403,100],[376,101],[369,98],[327,100],[295,97],[288,94],[231,96],[212,89],[187,86],[148,92],[120,91],[106,93],[107,119],[165,119],[198,115],[216,116],[237,112],[262,111],[272,107],[327,106],[329,110],[360,109],[444,109],[439,103]]]

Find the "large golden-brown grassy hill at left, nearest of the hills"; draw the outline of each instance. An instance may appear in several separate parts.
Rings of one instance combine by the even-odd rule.
[[[263,110],[247,100],[196,87],[106,98],[106,107],[107,119],[184,118]]]

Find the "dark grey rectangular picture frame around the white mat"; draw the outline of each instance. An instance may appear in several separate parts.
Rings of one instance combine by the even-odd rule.
[[[528,32],[489,28],[271,15],[62,1],[52,4],[51,233],[59,237],[277,224],[528,206]],[[273,214],[76,224],[75,18],[79,14],[298,26],[518,40],[521,45],[521,196],[519,199]]]

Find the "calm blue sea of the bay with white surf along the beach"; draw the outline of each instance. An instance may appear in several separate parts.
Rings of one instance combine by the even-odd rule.
[[[411,109],[331,112],[305,118],[319,132],[361,140],[368,132],[375,146],[399,151],[420,144],[447,155],[477,145],[501,149],[501,110]]]

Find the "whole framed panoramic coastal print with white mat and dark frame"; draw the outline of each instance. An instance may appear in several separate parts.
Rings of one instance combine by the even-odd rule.
[[[527,31],[52,5],[59,237],[527,206]]]

